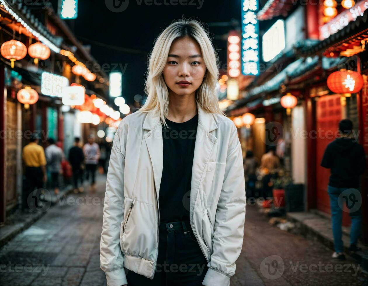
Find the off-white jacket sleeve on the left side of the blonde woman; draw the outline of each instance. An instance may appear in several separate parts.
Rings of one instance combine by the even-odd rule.
[[[100,267],[107,286],[127,284],[124,258],[120,249],[120,224],[124,219],[124,165],[127,125],[121,121],[115,133],[109,168],[100,241]]]

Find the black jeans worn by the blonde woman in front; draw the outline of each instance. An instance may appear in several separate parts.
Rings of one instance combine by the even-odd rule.
[[[201,286],[208,270],[189,222],[160,223],[159,252],[153,279],[125,268],[128,286]]]

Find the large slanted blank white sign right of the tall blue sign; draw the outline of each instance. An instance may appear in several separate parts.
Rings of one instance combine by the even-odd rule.
[[[285,27],[283,20],[277,20],[262,37],[264,61],[275,58],[285,48]]]

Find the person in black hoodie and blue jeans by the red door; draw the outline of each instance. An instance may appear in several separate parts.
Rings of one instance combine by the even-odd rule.
[[[352,130],[353,122],[351,120],[343,119],[340,121],[339,131],[341,137],[328,144],[321,162],[322,167],[331,169],[328,194],[330,196],[332,232],[335,245],[335,253],[332,254],[332,257],[340,260],[345,259],[343,253],[344,246],[341,239],[343,196],[351,199],[356,196],[357,192],[360,192],[359,178],[366,167],[364,149],[355,142]],[[344,194],[340,196],[342,192]],[[350,247],[348,250],[350,252],[360,251],[361,249],[357,247],[357,242],[362,221],[361,205],[359,205],[357,210],[356,207],[354,209],[351,208],[349,214],[351,217],[351,230]]]

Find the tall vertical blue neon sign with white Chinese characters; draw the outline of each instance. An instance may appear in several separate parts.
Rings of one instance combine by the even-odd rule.
[[[258,0],[243,0],[241,7],[241,67],[244,75],[259,74]]]

